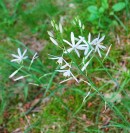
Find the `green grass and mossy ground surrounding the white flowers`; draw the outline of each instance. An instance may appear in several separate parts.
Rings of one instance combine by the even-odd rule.
[[[0,132],[130,132],[130,13],[127,0],[123,1],[126,6],[116,12],[113,5],[117,2],[0,2]],[[58,23],[63,19],[64,38],[67,39],[71,31],[76,35],[80,33],[79,27],[72,23],[77,16],[86,27],[81,34],[87,36],[91,32],[95,36],[100,32],[106,36],[104,43],[112,44],[109,57],[103,62],[94,58],[87,76],[80,71],[92,88],[73,80],[59,84],[63,77],[54,71],[55,61],[48,59],[48,54],[60,54],[47,34],[48,30],[52,31],[50,21]],[[60,40],[58,32],[56,36]],[[27,48],[30,58],[37,51],[39,59],[30,70],[29,62],[25,62],[20,74],[31,76],[14,82],[8,77],[19,65],[10,62],[10,55],[18,47]],[[73,55],[71,58],[75,59]],[[89,91],[90,95],[83,102]],[[110,99],[104,97],[110,94],[115,95]],[[113,97],[118,100],[111,102]]]

